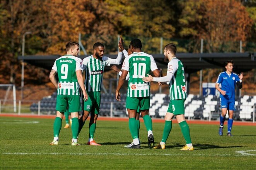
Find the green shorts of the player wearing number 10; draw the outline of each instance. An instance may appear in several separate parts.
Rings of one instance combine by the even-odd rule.
[[[126,97],[126,108],[137,110],[148,110],[150,106],[150,96],[148,97]],[[139,108],[140,107],[140,108]]]

